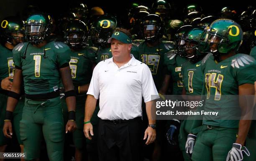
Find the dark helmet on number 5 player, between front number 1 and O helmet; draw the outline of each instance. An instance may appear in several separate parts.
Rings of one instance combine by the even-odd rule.
[[[71,48],[83,47],[88,38],[88,27],[81,20],[68,22],[65,30],[65,43]]]

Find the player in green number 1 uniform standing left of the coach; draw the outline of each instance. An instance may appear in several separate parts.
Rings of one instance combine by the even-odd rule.
[[[64,121],[59,97],[60,79],[65,88],[69,109],[66,133],[76,129],[75,92],[69,68],[70,49],[62,42],[46,42],[51,34],[49,15],[33,14],[25,22],[28,42],[13,49],[15,74],[8,94],[5,120],[10,120],[20,98],[22,80],[25,88],[25,105],[20,121],[20,139],[26,159],[38,159],[41,139],[46,141],[50,161],[63,161]],[[12,123],[5,121],[5,136],[12,136]]]

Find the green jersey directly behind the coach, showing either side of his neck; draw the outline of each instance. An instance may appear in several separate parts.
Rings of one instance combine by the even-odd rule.
[[[135,59],[138,59],[139,57],[139,51],[138,51],[138,47],[132,43],[132,48],[131,48],[131,54],[133,54],[133,57]],[[101,62],[102,60],[108,59],[113,57],[112,52],[110,47],[98,47],[98,51],[97,51],[97,59],[96,59],[96,63]]]

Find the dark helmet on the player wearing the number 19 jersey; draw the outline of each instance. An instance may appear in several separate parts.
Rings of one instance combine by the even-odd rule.
[[[164,34],[164,22],[159,15],[149,14],[141,22],[141,32],[144,40],[155,42]]]

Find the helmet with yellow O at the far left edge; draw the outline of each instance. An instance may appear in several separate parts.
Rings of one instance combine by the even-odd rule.
[[[1,21],[1,40],[13,45],[24,41],[24,26],[16,17],[6,17]]]

